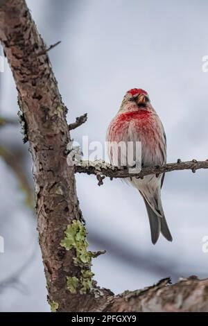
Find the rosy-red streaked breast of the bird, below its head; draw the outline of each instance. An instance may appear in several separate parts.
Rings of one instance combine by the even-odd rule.
[[[166,160],[162,123],[155,112],[137,110],[117,114],[108,128],[107,141],[140,141],[145,166],[160,165]]]

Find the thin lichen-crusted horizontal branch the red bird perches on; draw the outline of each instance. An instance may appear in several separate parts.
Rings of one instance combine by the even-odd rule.
[[[87,173],[88,175],[94,174],[97,176],[99,181],[101,181],[101,175],[111,179],[132,177],[144,178],[145,175],[159,175],[161,173],[181,170],[191,170],[193,173],[195,173],[198,169],[208,169],[208,160],[192,160],[187,162],[177,160],[176,163],[168,163],[162,166],[143,167],[140,173],[137,171],[135,171],[135,173],[129,173],[128,169],[125,167],[119,168],[117,166],[112,166],[109,163],[103,162],[101,160],[94,162],[83,161],[80,165],[75,166],[76,173]],[[99,185],[101,184],[102,182],[99,182]]]

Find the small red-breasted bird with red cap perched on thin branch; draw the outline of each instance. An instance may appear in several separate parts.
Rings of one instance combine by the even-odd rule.
[[[116,144],[124,142],[128,146],[129,141],[141,141],[142,167],[158,166],[166,163],[166,135],[164,127],[150,103],[148,93],[144,89],[134,88],[126,92],[119,112],[112,119],[107,129],[106,140],[108,155],[112,165],[120,166],[121,161],[126,158],[127,152],[126,148],[123,149],[121,146],[119,147],[118,155],[118,153],[112,150],[111,144],[114,142]],[[137,157],[137,155],[134,157]],[[144,199],[153,244],[157,242],[160,232],[168,241],[172,241],[161,200],[164,173],[146,175],[143,179],[132,177],[128,178],[127,181],[139,190]]]

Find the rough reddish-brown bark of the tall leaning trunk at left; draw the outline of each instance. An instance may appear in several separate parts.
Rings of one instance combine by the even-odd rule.
[[[60,242],[67,225],[81,218],[73,167],[66,158],[67,109],[24,0],[0,1],[0,40],[17,86],[24,139],[33,158],[37,228],[49,300],[58,302],[60,311],[92,309],[92,293],[77,294],[74,300],[66,286],[66,277],[80,277],[80,268],[73,265],[73,250],[65,250]]]

